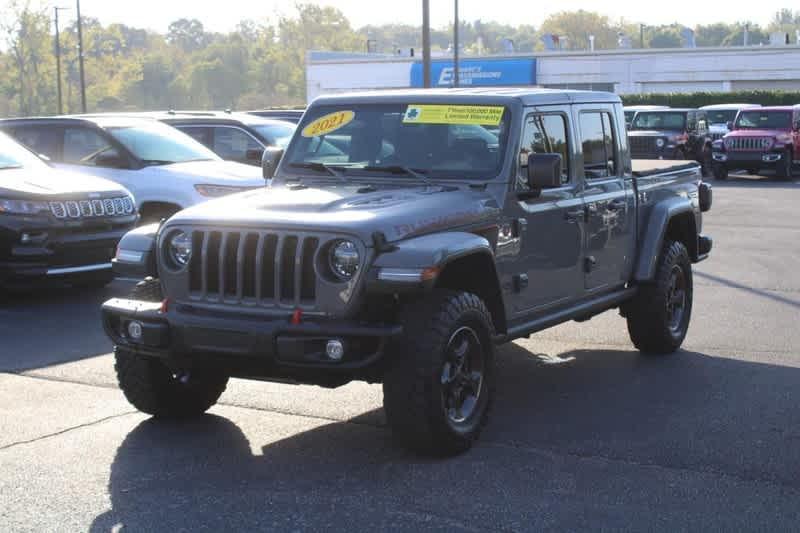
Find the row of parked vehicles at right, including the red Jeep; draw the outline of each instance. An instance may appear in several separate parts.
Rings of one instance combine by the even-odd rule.
[[[800,105],[631,106],[625,122],[634,159],[695,160],[720,180],[732,170],[791,179],[800,165]]]

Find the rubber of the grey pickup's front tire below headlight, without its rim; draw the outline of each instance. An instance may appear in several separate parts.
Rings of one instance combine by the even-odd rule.
[[[465,314],[476,314],[487,328],[488,350],[485,380],[487,405],[475,430],[454,433],[438,419],[441,398],[432,390],[432,380],[440,378],[441,349],[448,335]],[[492,317],[476,295],[452,290],[436,290],[429,298],[408,306],[403,312],[404,334],[390,349],[390,368],[384,379],[384,408],[395,438],[421,454],[449,456],[469,449],[486,425],[494,397],[494,336]],[[480,332],[479,332],[480,333]]]

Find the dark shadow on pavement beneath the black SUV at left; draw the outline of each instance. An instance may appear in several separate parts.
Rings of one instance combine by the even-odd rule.
[[[66,285],[0,296],[0,371],[25,371],[89,359],[112,350],[100,323],[101,304],[131,283],[102,289]]]

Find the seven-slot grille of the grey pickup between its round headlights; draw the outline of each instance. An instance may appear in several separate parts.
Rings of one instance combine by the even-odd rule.
[[[256,231],[193,231],[191,297],[268,307],[313,307],[317,237]]]

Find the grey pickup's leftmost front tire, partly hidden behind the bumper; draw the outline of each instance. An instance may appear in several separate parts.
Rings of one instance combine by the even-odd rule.
[[[160,302],[159,280],[147,278],[131,291],[130,298]],[[128,402],[156,417],[188,418],[206,412],[225,391],[228,376],[209,369],[174,370],[153,357],[127,348],[114,349],[117,381]]]

